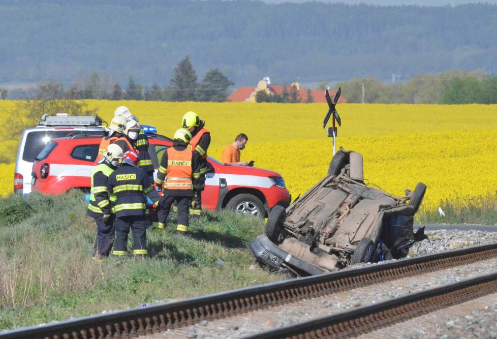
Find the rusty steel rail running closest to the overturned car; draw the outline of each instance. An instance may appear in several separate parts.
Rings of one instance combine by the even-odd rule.
[[[170,303],[2,332],[0,338],[103,338],[151,334],[497,257],[497,244],[389,261]]]

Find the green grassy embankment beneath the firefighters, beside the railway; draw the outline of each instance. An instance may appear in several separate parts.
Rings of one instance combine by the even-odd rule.
[[[148,231],[146,259],[96,261],[96,225],[82,201],[78,192],[0,199],[0,329],[289,278],[257,265],[246,248],[264,222],[230,212],[206,212],[191,222],[191,237],[173,234],[172,213],[165,230]]]

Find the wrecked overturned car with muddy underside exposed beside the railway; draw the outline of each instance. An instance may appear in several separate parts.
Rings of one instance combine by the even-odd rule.
[[[368,186],[362,155],[340,148],[328,175],[287,209],[275,206],[264,234],[247,246],[259,262],[295,276],[400,259],[426,238],[413,230],[425,191],[421,182],[404,197]]]

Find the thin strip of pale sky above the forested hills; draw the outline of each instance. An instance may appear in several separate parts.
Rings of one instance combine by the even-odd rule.
[[[260,0],[268,4],[281,4],[281,3],[305,3],[310,0]],[[329,4],[368,4],[368,5],[379,5],[379,6],[401,6],[401,5],[419,5],[419,6],[445,6],[445,5],[461,5],[461,4],[477,4],[477,3],[487,3],[496,5],[497,0],[487,0],[487,1],[471,1],[471,0],[314,0],[322,3]]]

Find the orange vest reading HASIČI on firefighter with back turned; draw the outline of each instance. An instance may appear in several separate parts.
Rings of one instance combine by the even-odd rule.
[[[167,149],[167,180],[164,188],[168,190],[192,190],[192,150]]]

